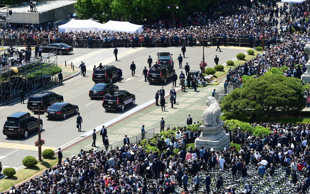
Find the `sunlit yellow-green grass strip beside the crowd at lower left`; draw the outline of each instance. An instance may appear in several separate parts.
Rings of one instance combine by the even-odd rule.
[[[38,162],[36,166],[24,168],[18,172],[13,177],[4,178],[0,180],[0,192],[3,192],[12,187],[12,185],[17,185],[18,183],[23,182],[24,180],[36,175],[42,170],[48,169],[51,166],[57,164],[58,159],[51,157],[50,159],[43,159],[43,162]]]

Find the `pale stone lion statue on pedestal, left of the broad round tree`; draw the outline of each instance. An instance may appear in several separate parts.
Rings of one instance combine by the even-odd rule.
[[[216,101],[215,97],[208,97],[206,100],[207,108],[202,114],[202,125],[203,126],[216,126],[221,123],[221,108],[219,103]]]

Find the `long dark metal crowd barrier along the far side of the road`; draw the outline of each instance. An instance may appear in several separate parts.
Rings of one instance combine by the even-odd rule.
[[[242,46],[242,47],[253,47],[256,46],[256,39],[254,38],[253,41],[249,41],[248,38],[237,38],[237,37],[227,37],[224,40],[223,37],[212,37],[203,39],[203,37],[193,37],[192,39],[189,38],[179,38],[178,41],[174,40],[174,37],[165,38],[164,41],[161,38],[149,38],[148,41],[144,40],[144,38],[139,39],[138,41],[134,40],[134,45],[130,39],[127,41],[125,39],[116,39],[115,41],[108,39],[107,42],[100,39],[93,39],[91,41],[87,39],[47,39],[47,38],[35,38],[35,39],[27,39],[27,38],[2,38],[1,43],[4,46],[24,46],[24,45],[36,45],[41,44],[42,46],[47,46],[53,43],[64,43],[70,45],[74,48],[89,48],[89,47],[96,47],[96,48],[114,48],[116,47],[171,47],[171,46],[202,46],[203,40],[205,40],[205,46],[216,46],[216,41],[219,39],[221,45],[230,45],[230,46]],[[199,41],[199,44],[197,44]],[[277,40],[277,43],[281,43],[283,40]],[[208,44],[209,43],[209,44]],[[262,40],[259,43],[262,46]],[[265,45],[267,45],[267,40],[265,40]]]

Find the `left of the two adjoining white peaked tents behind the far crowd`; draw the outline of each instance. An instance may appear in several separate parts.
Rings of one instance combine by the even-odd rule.
[[[100,24],[91,19],[71,19],[68,23],[58,26],[58,30],[59,32],[80,32],[81,30],[82,32],[96,32],[98,28],[102,28],[103,25],[104,24]]]

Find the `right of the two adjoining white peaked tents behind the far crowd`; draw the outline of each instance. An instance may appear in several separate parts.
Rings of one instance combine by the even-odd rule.
[[[131,24],[129,22],[118,22],[118,21],[108,21],[106,24],[102,25],[103,28],[97,28],[97,31],[113,31],[113,32],[131,32],[140,33],[143,32],[142,25]]]

